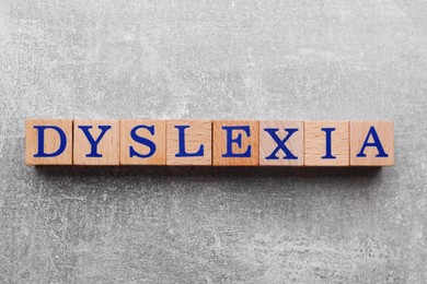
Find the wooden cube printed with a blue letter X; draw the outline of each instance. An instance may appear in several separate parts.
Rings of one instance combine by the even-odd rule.
[[[259,121],[261,166],[303,166],[303,121]]]

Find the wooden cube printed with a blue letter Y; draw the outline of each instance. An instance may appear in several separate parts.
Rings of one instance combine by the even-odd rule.
[[[74,120],[74,165],[118,165],[120,126],[118,120]]]

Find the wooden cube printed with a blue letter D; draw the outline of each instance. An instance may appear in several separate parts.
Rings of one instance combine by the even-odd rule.
[[[72,165],[72,120],[27,119],[25,163],[27,165]]]

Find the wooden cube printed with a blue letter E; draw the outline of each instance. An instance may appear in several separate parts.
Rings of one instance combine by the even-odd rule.
[[[258,143],[258,121],[214,121],[215,166],[257,166],[259,164]]]

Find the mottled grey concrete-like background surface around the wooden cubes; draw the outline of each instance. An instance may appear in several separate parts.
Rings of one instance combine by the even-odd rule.
[[[426,1],[0,0],[0,283],[426,283]],[[392,119],[396,166],[34,168],[24,119]]]

